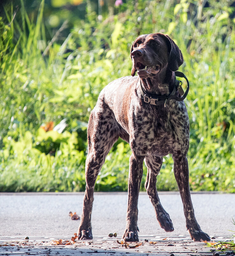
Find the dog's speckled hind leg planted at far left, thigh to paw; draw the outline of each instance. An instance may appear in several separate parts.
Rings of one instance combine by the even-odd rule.
[[[88,122],[87,137],[86,190],[81,222],[77,232],[80,240],[92,239],[91,214],[95,181],[108,152],[118,139],[114,114],[106,105],[98,106],[92,111]]]

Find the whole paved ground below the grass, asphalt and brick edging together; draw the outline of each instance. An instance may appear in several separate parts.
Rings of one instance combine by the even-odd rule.
[[[139,243],[119,244],[125,228],[127,193],[95,193],[92,212],[92,241],[70,241],[78,221],[69,212],[81,214],[84,193],[0,193],[1,255],[217,255],[202,242],[193,242],[185,227],[179,193],[159,193],[162,204],[173,220],[175,231],[160,228],[146,193],[139,196]],[[212,240],[224,241],[232,236],[235,219],[235,194],[192,193],[196,218]],[[107,237],[116,232],[116,238]],[[145,235],[147,234],[147,235]],[[28,236],[29,240],[24,238]],[[61,245],[53,245],[61,240]],[[142,244],[140,244],[142,243]],[[135,247],[139,245],[138,247]],[[135,248],[131,248],[135,247]],[[212,251],[211,251],[212,250]],[[219,252],[220,255],[235,255]]]

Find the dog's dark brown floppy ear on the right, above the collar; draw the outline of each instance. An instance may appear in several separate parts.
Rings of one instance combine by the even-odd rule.
[[[169,45],[169,58],[168,58],[168,67],[171,71],[176,71],[179,69],[179,66],[181,66],[184,62],[183,55],[181,53],[181,50],[176,45],[176,43],[170,38],[170,36],[165,35],[165,37],[168,40]]]

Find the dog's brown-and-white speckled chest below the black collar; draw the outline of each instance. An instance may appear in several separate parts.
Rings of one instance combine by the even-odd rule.
[[[175,150],[187,150],[189,125],[187,112],[176,109],[147,109],[136,118],[137,141],[148,153],[165,156]]]

